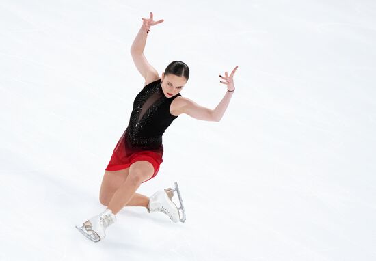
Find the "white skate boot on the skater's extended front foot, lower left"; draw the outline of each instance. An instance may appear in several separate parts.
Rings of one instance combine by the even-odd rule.
[[[104,212],[83,223],[80,228],[76,225],[76,228],[91,241],[98,242],[105,238],[106,228],[115,222],[115,215],[113,215],[111,209],[107,208]]]

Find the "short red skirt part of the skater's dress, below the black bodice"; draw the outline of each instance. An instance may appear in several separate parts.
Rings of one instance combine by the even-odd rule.
[[[154,167],[154,174],[151,178],[154,178],[158,171],[159,165],[163,162],[163,145],[159,150],[135,150],[127,146],[126,131],[124,131],[122,137],[120,137],[118,143],[113,149],[111,160],[109,161],[105,170],[116,171],[126,169],[136,161],[148,161]],[[148,180],[150,180],[149,178]],[[145,180],[144,182],[148,181]],[[142,182],[142,183],[144,183]]]

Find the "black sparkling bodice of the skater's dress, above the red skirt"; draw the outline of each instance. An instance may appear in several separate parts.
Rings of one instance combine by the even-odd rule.
[[[173,120],[170,113],[172,100],[163,94],[161,79],[146,85],[133,102],[133,110],[126,128],[127,146],[141,150],[163,148],[162,135]]]

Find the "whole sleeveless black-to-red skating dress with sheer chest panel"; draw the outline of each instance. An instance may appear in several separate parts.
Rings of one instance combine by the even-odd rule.
[[[178,96],[181,94],[167,98],[163,94],[161,79],[149,83],[137,94],[129,124],[113,149],[106,170],[126,169],[135,161],[148,161],[154,167],[151,178],[157,175],[163,162],[162,135],[178,118],[170,113],[171,102]]]

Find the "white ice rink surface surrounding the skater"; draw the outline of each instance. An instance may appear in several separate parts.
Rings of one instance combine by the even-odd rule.
[[[123,208],[100,243],[100,182],[144,78],[185,61],[180,115],[139,193],[177,181],[187,221]],[[0,260],[376,260],[376,2],[0,0]]]

